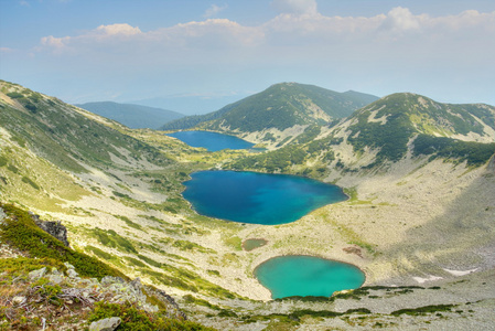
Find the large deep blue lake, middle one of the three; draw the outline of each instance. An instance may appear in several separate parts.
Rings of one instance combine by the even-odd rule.
[[[330,203],[347,200],[341,188],[316,180],[257,172],[200,171],[184,182],[184,199],[197,213],[252,224],[294,222]]]

